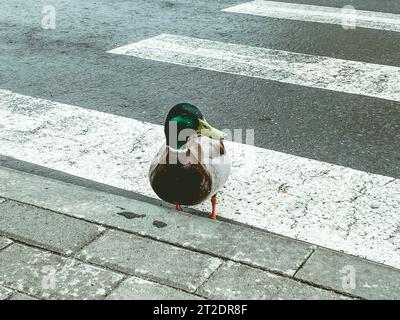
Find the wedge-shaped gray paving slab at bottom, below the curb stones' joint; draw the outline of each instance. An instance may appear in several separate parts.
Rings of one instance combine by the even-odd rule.
[[[331,300],[346,299],[293,279],[227,262],[197,291],[211,299]]]

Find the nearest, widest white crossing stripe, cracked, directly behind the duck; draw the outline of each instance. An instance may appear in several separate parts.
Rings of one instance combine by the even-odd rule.
[[[158,125],[0,90],[0,154],[156,197]],[[219,214],[400,268],[400,180],[238,143]],[[286,186],[286,187],[282,187]],[[198,206],[210,212],[210,204]]]

